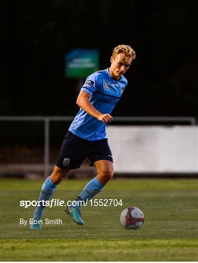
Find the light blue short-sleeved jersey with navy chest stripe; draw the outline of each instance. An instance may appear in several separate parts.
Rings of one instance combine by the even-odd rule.
[[[123,75],[119,80],[113,79],[109,69],[106,69],[88,76],[81,91],[92,95],[89,101],[100,113],[111,114],[126,85]],[[95,141],[106,138],[106,125],[80,108],[69,131],[83,139]]]

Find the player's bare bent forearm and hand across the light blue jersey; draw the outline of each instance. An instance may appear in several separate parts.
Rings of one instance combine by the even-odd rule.
[[[99,121],[102,121],[103,123],[111,122],[113,119],[112,116],[109,113],[102,114],[96,108],[94,108],[94,106],[89,101],[90,97],[91,97],[91,94],[85,91],[80,91],[76,103],[86,113],[97,118]]]

